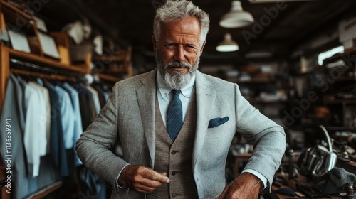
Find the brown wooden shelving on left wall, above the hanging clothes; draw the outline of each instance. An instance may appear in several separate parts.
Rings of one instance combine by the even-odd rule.
[[[20,23],[21,22],[21,23]],[[0,44],[0,112],[3,109],[6,84],[9,80],[11,72],[18,75],[29,75],[32,77],[42,77],[50,80],[60,81],[75,81],[78,77],[83,77],[86,74],[98,75],[100,81],[103,81],[105,85],[113,85],[115,82],[125,79],[126,77],[132,77],[132,65],[131,65],[131,48],[114,50],[114,48],[106,49],[110,52],[105,52],[104,55],[92,56],[92,52],[86,53],[85,58],[80,60],[80,63],[72,60],[72,54],[75,49],[72,49],[73,45],[70,45],[70,38],[66,33],[48,31],[44,34],[51,36],[56,43],[56,47],[60,58],[52,58],[48,56],[48,52],[44,52],[41,47],[40,31],[37,26],[37,21],[31,14],[22,11],[9,4],[5,0],[0,0],[0,28],[2,31],[7,31],[7,28],[15,28],[15,31],[23,33],[26,36],[28,45],[30,46],[31,53],[27,53],[12,48],[10,40],[8,42],[1,41]],[[57,30],[58,31],[58,30]],[[116,47],[114,43],[110,43],[110,47]],[[75,46],[76,48],[77,46]],[[85,51],[86,52],[86,51]],[[83,53],[80,51],[79,53]],[[41,68],[50,70],[38,71],[36,68],[14,68],[12,65],[13,60],[16,59],[24,63],[31,63]],[[75,64],[74,64],[75,63]],[[101,68],[90,68],[90,64],[98,63],[103,66]],[[0,178],[3,178],[7,174],[4,170],[3,161],[0,158]],[[63,181],[57,181],[46,188],[36,190],[35,193],[28,195],[27,198],[45,198],[47,195],[55,192],[59,188],[65,187]],[[1,190],[1,199],[11,198],[11,194],[6,193],[6,188]]]

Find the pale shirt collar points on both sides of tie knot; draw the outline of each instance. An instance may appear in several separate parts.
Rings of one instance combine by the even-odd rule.
[[[166,82],[164,82],[163,77],[159,73],[159,70],[157,70],[156,82],[161,97],[162,98],[167,97],[167,95],[169,95],[172,89],[167,86]],[[195,83],[195,74],[193,75],[192,79],[188,82],[188,84],[181,88],[181,93],[184,97],[190,98],[192,96],[194,83]]]

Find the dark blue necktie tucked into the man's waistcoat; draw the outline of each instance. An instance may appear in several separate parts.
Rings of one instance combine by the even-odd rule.
[[[172,90],[172,100],[169,102],[167,111],[167,131],[174,141],[183,124],[182,102],[179,99],[180,90]]]

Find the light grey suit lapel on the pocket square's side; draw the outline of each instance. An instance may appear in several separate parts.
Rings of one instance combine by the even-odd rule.
[[[193,149],[193,172],[204,144],[209,119],[211,119],[211,105],[214,104],[214,100],[216,99],[216,92],[215,90],[211,90],[209,82],[205,79],[204,75],[199,71],[196,74],[197,131]]]

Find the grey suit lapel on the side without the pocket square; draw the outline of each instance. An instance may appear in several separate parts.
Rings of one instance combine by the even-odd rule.
[[[136,91],[151,167],[155,165],[155,97],[157,69],[142,77],[142,87]],[[152,89],[153,88],[153,89]]]

